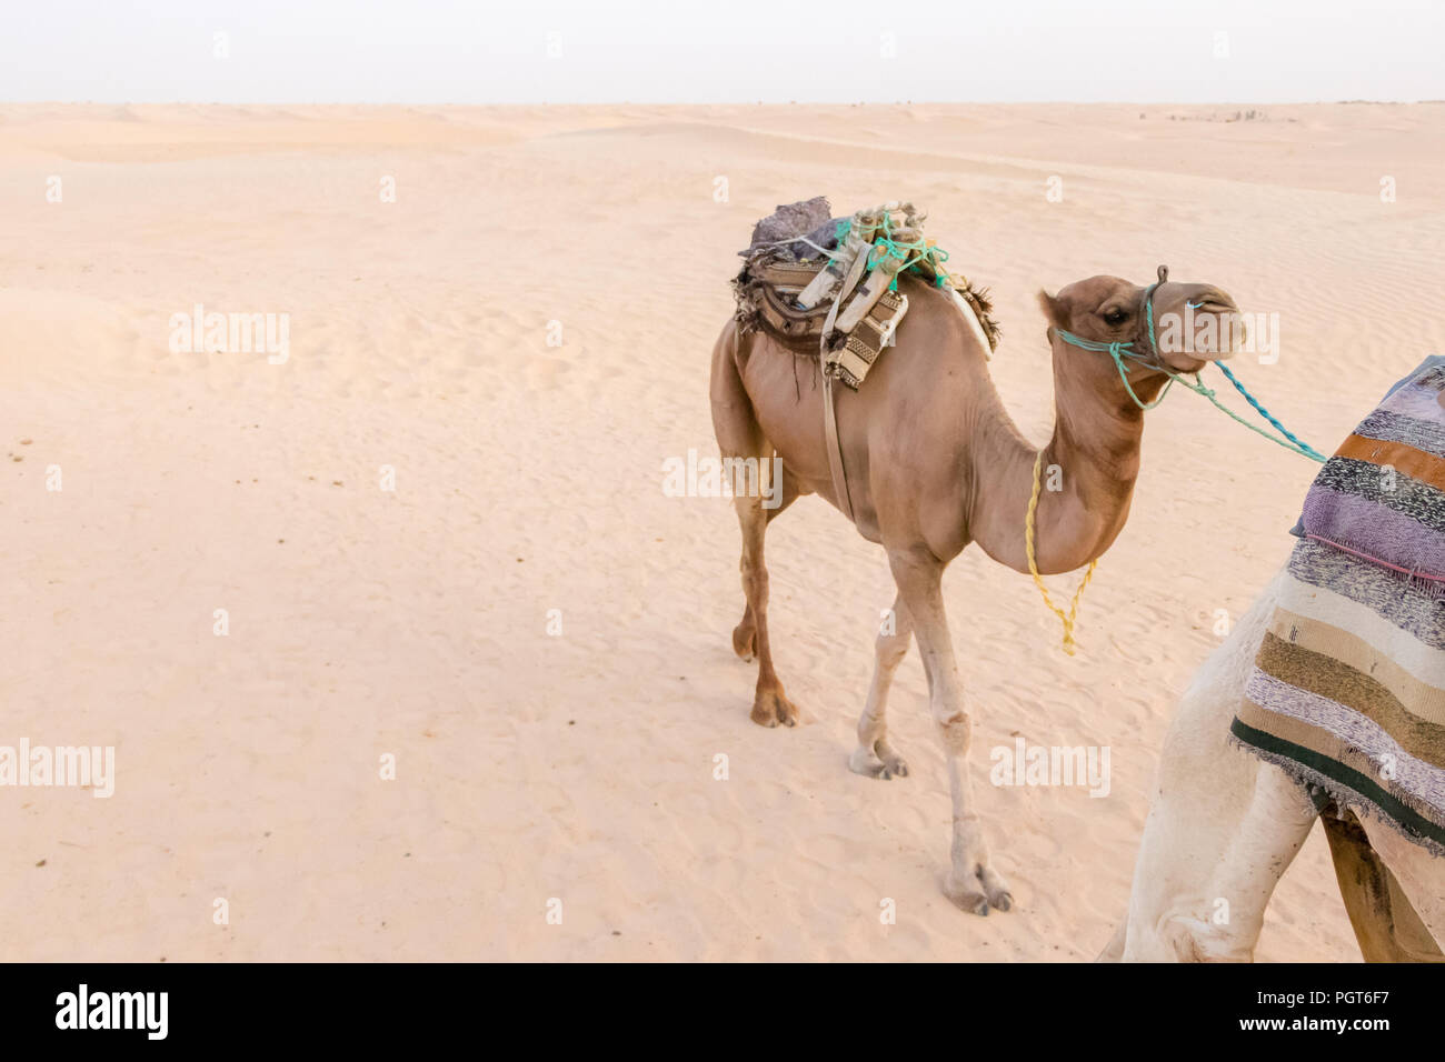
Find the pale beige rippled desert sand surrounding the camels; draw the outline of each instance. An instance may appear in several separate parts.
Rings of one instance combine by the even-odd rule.
[[[0,958],[1092,958],[1173,702],[1312,465],[1172,396],[1074,659],[1027,578],[954,564],[1019,902],[978,919],[939,892],[916,653],[912,777],[845,770],[881,552],[816,498],[773,527],[806,725],[754,727],[730,504],[666,497],[662,462],[714,451],[734,251],[815,194],[931,208],[1035,441],[1033,293],[1168,262],[1280,315],[1240,371],[1334,446],[1445,350],[1445,105],[1234,111],[0,107],[0,744],[116,748],[108,799],[0,789]],[[289,358],[173,353],[195,303],[289,314]],[[1110,795],[990,786],[1014,735],[1108,746]],[[1260,958],[1358,958],[1318,831]]]

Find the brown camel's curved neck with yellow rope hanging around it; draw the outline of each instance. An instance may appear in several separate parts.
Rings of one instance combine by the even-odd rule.
[[[1144,379],[1134,390],[1149,402],[1162,381],[1159,376]],[[1058,338],[1053,399],[1053,438],[1043,448],[1035,520],[1035,558],[1043,574],[1088,564],[1123,530],[1144,426],[1143,410],[1124,392],[1108,355]],[[1039,451],[1019,433],[1001,403],[994,423],[981,425],[974,438],[970,536],[1000,564],[1027,572],[1025,514]]]

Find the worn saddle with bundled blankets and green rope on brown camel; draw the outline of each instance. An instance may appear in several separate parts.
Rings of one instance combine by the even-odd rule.
[[[991,353],[997,325],[990,306],[967,279],[948,272],[948,254],[923,236],[926,217],[910,202],[886,202],[834,218],[821,195],[779,207],[740,251],[746,264],[733,285],[738,325],[816,344],[824,374],[857,390],[907,314],[897,286],[902,273],[913,272],[957,301]]]

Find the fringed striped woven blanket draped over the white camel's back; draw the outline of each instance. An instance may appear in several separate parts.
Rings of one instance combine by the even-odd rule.
[[[1445,857],[1442,400],[1425,368],[1321,468],[1231,737]]]

